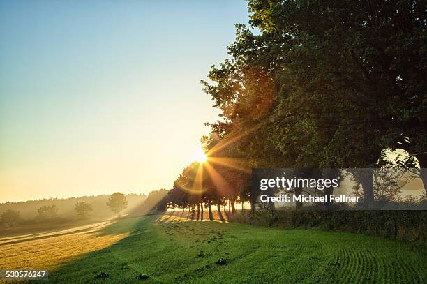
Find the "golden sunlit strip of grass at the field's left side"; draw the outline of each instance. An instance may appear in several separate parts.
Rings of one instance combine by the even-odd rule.
[[[56,269],[85,253],[110,246],[128,236],[129,227],[100,234],[112,222],[95,223],[73,229],[0,238],[0,269]],[[1,279],[0,279],[1,283]]]

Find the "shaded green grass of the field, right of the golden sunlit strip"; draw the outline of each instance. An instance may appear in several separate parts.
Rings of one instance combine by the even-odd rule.
[[[223,214],[227,214],[227,212],[223,212]],[[164,218],[166,217],[164,216]],[[103,283],[140,283],[140,281],[143,283],[215,283],[216,281],[196,282],[202,280],[201,276],[209,278],[212,273],[212,270],[202,272],[200,267],[197,267],[200,262],[204,262],[200,264],[204,269],[207,268],[208,260],[213,264],[209,269],[213,267],[223,269],[223,265],[227,263],[227,257],[223,258],[220,255],[202,259],[207,256],[207,254],[204,255],[205,253],[215,252],[214,248],[221,248],[227,253],[231,253],[230,255],[236,255],[231,261],[234,263],[233,265],[237,266],[230,267],[231,270],[221,271],[223,274],[216,274],[218,277],[227,275],[227,277],[236,278],[233,278],[234,281],[220,283],[242,283],[241,275],[236,271],[255,271],[260,263],[267,263],[272,260],[270,257],[277,255],[286,260],[284,265],[286,265],[286,269],[289,269],[289,274],[280,273],[280,269],[275,269],[277,267],[270,267],[269,271],[274,274],[274,276],[270,276],[270,281],[264,279],[267,274],[262,274],[264,273],[262,271],[266,270],[259,270],[260,273],[262,272],[260,274],[262,278],[256,282],[247,282],[295,283],[298,281],[291,282],[290,280],[297,279],[299,282],[318,283],[320,279],[323,279],[321,277],[325,276],[326,270],[324,269],[333,269],[335,274],[329,274],[329,278],[323,279],[324,282],[343,283],[348,281],[349,275],[352,275],[353,265],[359,265],[359,272],[354,278],[354,283],[402,282],[398,281],[399,279],[403,279],[403,282],[406,283],[425,282],[422,281],[425,275],[422,261],[425,254],[422,252],[425,251],[425,248],[422,250],[414,250],[413,247],[404,249],[394,241],[362,234],[322,232],[320,230],[284,231],[237,224],[223,227],[223,224],[218,222],[200,222],[189,227],[188,224],[191,223],[189,219],[177,222],[172,219],[170,223],[153,224],[158,218],[160,218],[160,214],[140,218],[123,218],[117,223],[103,228],[99,234],[120,234],[128,230],[128,236],[110,246],[81,255],[80,258],[62,265],[50,273],[49,282],[73,284],[100,281]],[[178,223],[182,225],[179,226]],[[236,226],[239,226],[240,229],[236,229]],[[227,231],[225,232],[225,230]],[[276,244],[278,239],[281,241],[274,246],[277,249],[271,250],[270,244]],[[181,243],[184,240],[186,242]],[[199,244],[202,243],[203,247],[199,247]],[[209,248],[212,248],[213,251],[208,251]],[[186,255],[185,252],[190,250],[193,250],[193,254]],[[407,255],[396,259],[396,255],[402,253]],[[328,256],[319,257],[323,254]],[[188,264],[184,260],[188,259],[188,256],[196,257],[197,261],[194,262],[193,268],[197,267],[197,269],[187,270],[190,272],[186,271],[184,274],[183,270]],[[241,262],[238,264],[239,260]],[[276,265],[277,262],[271,263]],[[364,267],[368,267],[370,270],[364,270],[361,263],[364,263]],[[373,273],[373,269],[378,265],[382,269],[380,270],[381,275],[387,276],[386,278],[380,278],[382,277],[380,274]],[[317,267],[320,270],[311,274],[311,271]],[[305,274],[306,271],[310,271],[310,273]],[[288,277],[288,275],[291,276]],[[401,278],[401,275],[406,278]],[[237,281],[238,279],[240,281]]]

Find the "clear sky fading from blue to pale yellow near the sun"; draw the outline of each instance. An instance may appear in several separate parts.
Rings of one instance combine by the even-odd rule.
[[[171,188],[246,2],[1,1],[0,202]]]

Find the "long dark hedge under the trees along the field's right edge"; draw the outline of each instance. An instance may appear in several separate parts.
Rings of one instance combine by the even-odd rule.
[[[319,227],[324,230],[366,233],[405,241],[427,240],[427,211],[314,211],[283,209],[243,211],[231,222],[270,227]]]

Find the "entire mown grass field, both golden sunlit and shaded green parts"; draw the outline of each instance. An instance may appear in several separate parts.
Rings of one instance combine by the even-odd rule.
[[[425,245],[363,234],[151,215],[13,241],[0,269],[51,283],[427,283]]]

